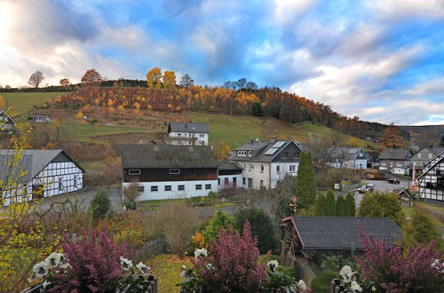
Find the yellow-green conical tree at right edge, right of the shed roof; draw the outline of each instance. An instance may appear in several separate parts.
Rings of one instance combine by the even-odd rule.
[[[436,241],[436,249],[442,251],[443,241],[440,235],[440,228],[435,224],[435,220],[424,208],[415,207],[411,220],[402,229],[402,246],[405,249],[416,248],[418,245],[426,246],[432,240]]]

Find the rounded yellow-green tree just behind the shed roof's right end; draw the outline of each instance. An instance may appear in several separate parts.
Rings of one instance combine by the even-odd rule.
[[[398,226],[402,226],[405,220],[404,212],[398,202],[398,194],[389,193],[364,194],[358,215],[360,217],[388,217]]]

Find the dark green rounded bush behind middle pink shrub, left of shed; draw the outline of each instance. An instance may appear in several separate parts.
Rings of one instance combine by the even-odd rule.
[[[246,221],[250,222],[251,234],[258,239],[258,249],[261,254],[277,247],[276,232],[272,220],[262,210],[256,208],[242,209],[234,216],[236,228],[241,231]]]

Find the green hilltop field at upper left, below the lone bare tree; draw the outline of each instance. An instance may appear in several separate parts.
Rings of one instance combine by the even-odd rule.
[[[33,106],[42,106],[47,99],[55,99],[66,92],[0,92],[4,97],[4,107],[11,107],[11,115],[26,113]]]

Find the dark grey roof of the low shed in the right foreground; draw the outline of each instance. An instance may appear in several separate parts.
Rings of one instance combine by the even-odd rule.
[[[371,234],[377,240],[384,240],[387,247],[401,237],[400,227],[390,218],[355,217],[291,217],[303,249],[346,250],[354,247],[363,250],[358,232],[358,222],[362,232]]]

